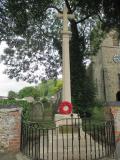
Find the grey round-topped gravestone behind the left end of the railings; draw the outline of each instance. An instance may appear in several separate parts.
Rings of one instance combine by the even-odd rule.
[[[43,119],[44,106],[41,102],[35,102],[30,111],[30,121],[40,121]]]

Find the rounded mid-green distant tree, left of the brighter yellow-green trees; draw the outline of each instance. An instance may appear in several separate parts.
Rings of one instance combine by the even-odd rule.
[[[34,87],[25,87],[21,89],[18,93],[19,98],[30,97],[30,96],[34,98],[39,97],[38,90]]]

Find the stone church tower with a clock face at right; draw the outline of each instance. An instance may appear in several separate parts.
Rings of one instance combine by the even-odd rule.
[[[96,99],[120,101],[120,46],[116,31],[107,34],[96,56],[92,56],[91,67]]]

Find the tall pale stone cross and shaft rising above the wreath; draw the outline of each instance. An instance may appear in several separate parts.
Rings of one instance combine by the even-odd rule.
[[[63,53],[63,93],[62,100],[71,102],[71,85],[70,85],[70,58],[69,58],[69,39],[71,32],[68,30],[68,19],[74,16],[68,14],[67,7],[64,7],[63,14],[58,14],[59,18],[63,18],[62,31],[62,53]]]

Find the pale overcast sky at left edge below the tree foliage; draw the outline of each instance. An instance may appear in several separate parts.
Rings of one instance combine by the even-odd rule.
[[[6,47],[5,42],[2,42],[0,45],[0,55],[3,53],[5,47]],[[18,92],[23,87],[31,85],[27,82],[23,81],[17,82],[15,79],[9,79],[7,75],[3,74],[4,69],[5,66],[0,63],[0,96],[7,96],[8,91],[10,90]]]

